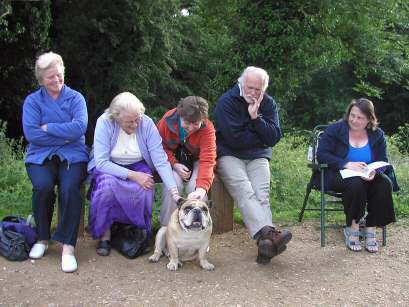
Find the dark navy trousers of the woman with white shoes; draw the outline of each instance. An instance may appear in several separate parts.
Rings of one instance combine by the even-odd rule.
[[[54,156],[43,164],[27,163],[28,176],[33,184],[32,206],[38,240],[50,239],[50,226],[55,204],[55,185],[58,185],[60,223],[52,239],[75,246],[82,212],[80,187],[87,176],[87,163],[68,165]]]

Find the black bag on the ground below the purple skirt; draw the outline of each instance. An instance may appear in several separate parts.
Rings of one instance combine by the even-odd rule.
[[[129,224],[114,223],[112,225],[111,245],[129,259],[150,251],[147,231]]]

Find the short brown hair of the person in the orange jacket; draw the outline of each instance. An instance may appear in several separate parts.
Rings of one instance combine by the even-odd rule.
[[[206,99],[199,96],[182,98],[177,106],[179,116],[192,123],[207,118],[208,110]]]

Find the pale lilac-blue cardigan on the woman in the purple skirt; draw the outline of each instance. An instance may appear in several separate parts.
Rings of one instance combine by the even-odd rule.
[[[107,113],[102,114],[95,126],[94,146],[88,171],[96,168],[123,180],[128,177],[128,169],[111,161],[111,151],[115,147],[121,127],[115,120],[110,120]],[[172,167],[162,146],[162,138],[154,122],[147,115],[143,115],[136,128],[136,139],[145,162],[152,170],[158,172],[168,189],[176,188]]]

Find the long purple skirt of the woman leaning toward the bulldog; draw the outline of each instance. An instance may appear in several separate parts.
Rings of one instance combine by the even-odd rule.
[[[152,175],[145,161],[121,166]],[[95,169],[92,176],[95,184],[91,192],[89,228],[93,238],[100,239],[114,222],[135,225],[150,235],[155,189],[145,190],[135,181]]]

